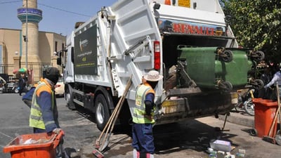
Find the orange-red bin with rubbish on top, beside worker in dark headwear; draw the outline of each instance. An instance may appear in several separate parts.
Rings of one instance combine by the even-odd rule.
[[[47,133],[17,136],[4,147],[3,152],[11,152],[11,158],[55,158],[55,147],[60,143],[62,136],[63,131],[50,136]],[[24,144],[30,138],[32,143]]]

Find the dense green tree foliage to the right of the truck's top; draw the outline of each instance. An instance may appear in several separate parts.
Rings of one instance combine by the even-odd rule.
[[[281,1],[221,0],[238,43],[281,61]]]

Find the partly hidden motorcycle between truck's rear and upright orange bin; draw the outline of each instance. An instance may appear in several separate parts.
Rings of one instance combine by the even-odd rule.
[[[247,114],[254,116],[254,103],[252,99],[254,98],[254,88],[246,88],[238,90],[238,102],[235,105],[235,110],[239,108],[244,110]]]

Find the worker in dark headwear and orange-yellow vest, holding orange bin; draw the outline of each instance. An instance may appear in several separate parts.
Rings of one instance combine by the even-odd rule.
[[[30,126],[34,133],[60,133],[58,124],[58,108],[55,100],[55,84],[58,82],[60,72],[56,67],[48,67],[45,78],[41,79],[34,90],[30,108]],[[58,145],[57,157],[63,155],[63,139]]]

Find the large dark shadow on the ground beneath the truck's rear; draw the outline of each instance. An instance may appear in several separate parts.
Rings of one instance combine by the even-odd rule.
[[[155,126],[156,153],[167,154],[186,149],[205,152],[211,141],[216,139],[230,141],[229,138],[236,136],[217,129],[220,128],[203,124],[195,119],[184,123]]]

